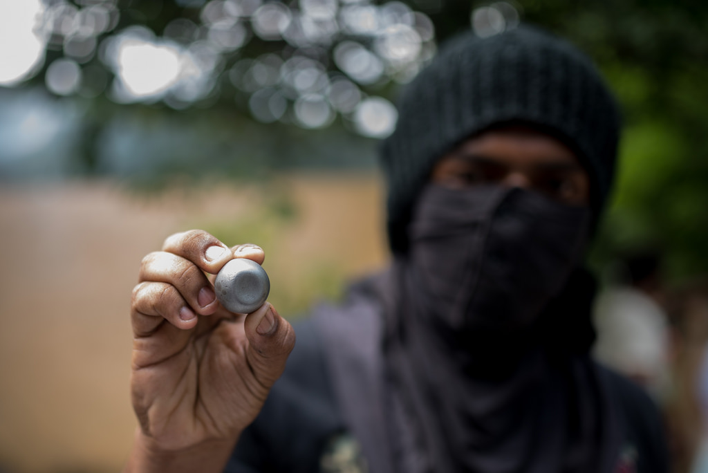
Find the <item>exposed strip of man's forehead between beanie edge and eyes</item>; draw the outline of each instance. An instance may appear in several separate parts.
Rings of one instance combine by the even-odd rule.
[[[524,125],[487,130],[466,139],[451,154],[458,157],[481,156],[520,168],[564,164],[581,169],[578,156],[564,142]]]

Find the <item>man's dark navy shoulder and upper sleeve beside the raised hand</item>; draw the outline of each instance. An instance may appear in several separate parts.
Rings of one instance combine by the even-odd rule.
[[[297,340],[261,414],[246,429],[227,472],[316,472],[343,421],[312,320],[293,324]]]

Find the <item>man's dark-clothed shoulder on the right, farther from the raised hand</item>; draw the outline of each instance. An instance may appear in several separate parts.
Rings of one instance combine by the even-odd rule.
[[[624,443],[620,454],[640,473],[668,472],[668,443],[661,411],[644,389],[598,364],[598,372],[615,406]]]

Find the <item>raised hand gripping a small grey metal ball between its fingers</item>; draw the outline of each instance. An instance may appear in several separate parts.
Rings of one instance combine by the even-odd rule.
[[[229,249],[192,230],[169,236],[162,251],[142,261],[131,307],[139,421],[131,469],[148,457],[195,458],[200,449],[218,450],[207,457],[225,462],[285,368],[295,332],[273,306],[233,314],[216,300],[205,273],[215,275],[234,257],[260,264],[265,256],[258,246]]]

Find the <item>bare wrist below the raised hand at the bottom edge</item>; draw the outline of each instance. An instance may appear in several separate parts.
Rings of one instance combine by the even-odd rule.
[[[151,437],[135,429],[135,441],[124,473],[222,472],[238,437],[231,440],[205,440],[179,450],[167,450]]]

